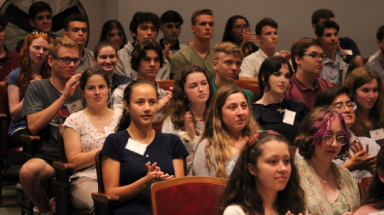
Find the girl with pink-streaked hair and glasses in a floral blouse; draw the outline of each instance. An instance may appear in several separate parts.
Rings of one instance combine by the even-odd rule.
[[[346,157],[349,138],[343,117],[328,107],[315,108],[302,122],[295,145],[304,159],[297,166],[312,215],[349,214],[360,205],[352,174],[332,162]]]

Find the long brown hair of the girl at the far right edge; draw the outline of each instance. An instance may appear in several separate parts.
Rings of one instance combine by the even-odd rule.
[[[381,128],[384,124],[384,104],[383,104],[383,95],[382,95],[382,80],[380,76],[378,76],[375,72],[373,72],[371,69],[368,68],[357,68],[351,72],[351,74],[348,75],[347,79],[345,80],[345,86],[349,89],[349,97],[352,101],[356,102],[356,90],[363,86],[364,84],[370,82],[371,80],[375,79],[377,81],[377,90],[379,92],[379,97],[377,98],[375,104],[369,110],[369,120],[372,122],[372,128]],[[356,121],[351,127],[352,132],[357,135],[361,136],[363,133],[367,131],[367,128],[365,126],[365,119],[363,116],[363,108],[360,106],[358,102],[357,109],[355,110],[356,113]]]

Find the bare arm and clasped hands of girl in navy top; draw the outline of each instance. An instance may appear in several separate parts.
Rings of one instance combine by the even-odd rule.
[[[102,168],[105,193],[117,195],[122,202],[126,202],[148,189],[152,183],[173,178],[173,176],[161,172],[160,168],[156,167],[156,163],[152,166],[146,164],[146,166],[148,169],[146,176],[132,184],[120,186],[120,162],[104,155],[102,158]]]

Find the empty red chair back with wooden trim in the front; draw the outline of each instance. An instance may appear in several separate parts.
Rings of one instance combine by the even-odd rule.
[[[227,182],[227,179],[194,176],[154,183],[150,198],[152,214],[217,214],[216,206]]]

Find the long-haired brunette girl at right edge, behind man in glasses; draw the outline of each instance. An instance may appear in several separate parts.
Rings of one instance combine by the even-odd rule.
[[[356,122],[351,127],[357,136],[374,139],[384,144],[384,105],[382,80],[368,68],[358,68],[348,75],[345,86],[350,98],[356,102]]]

